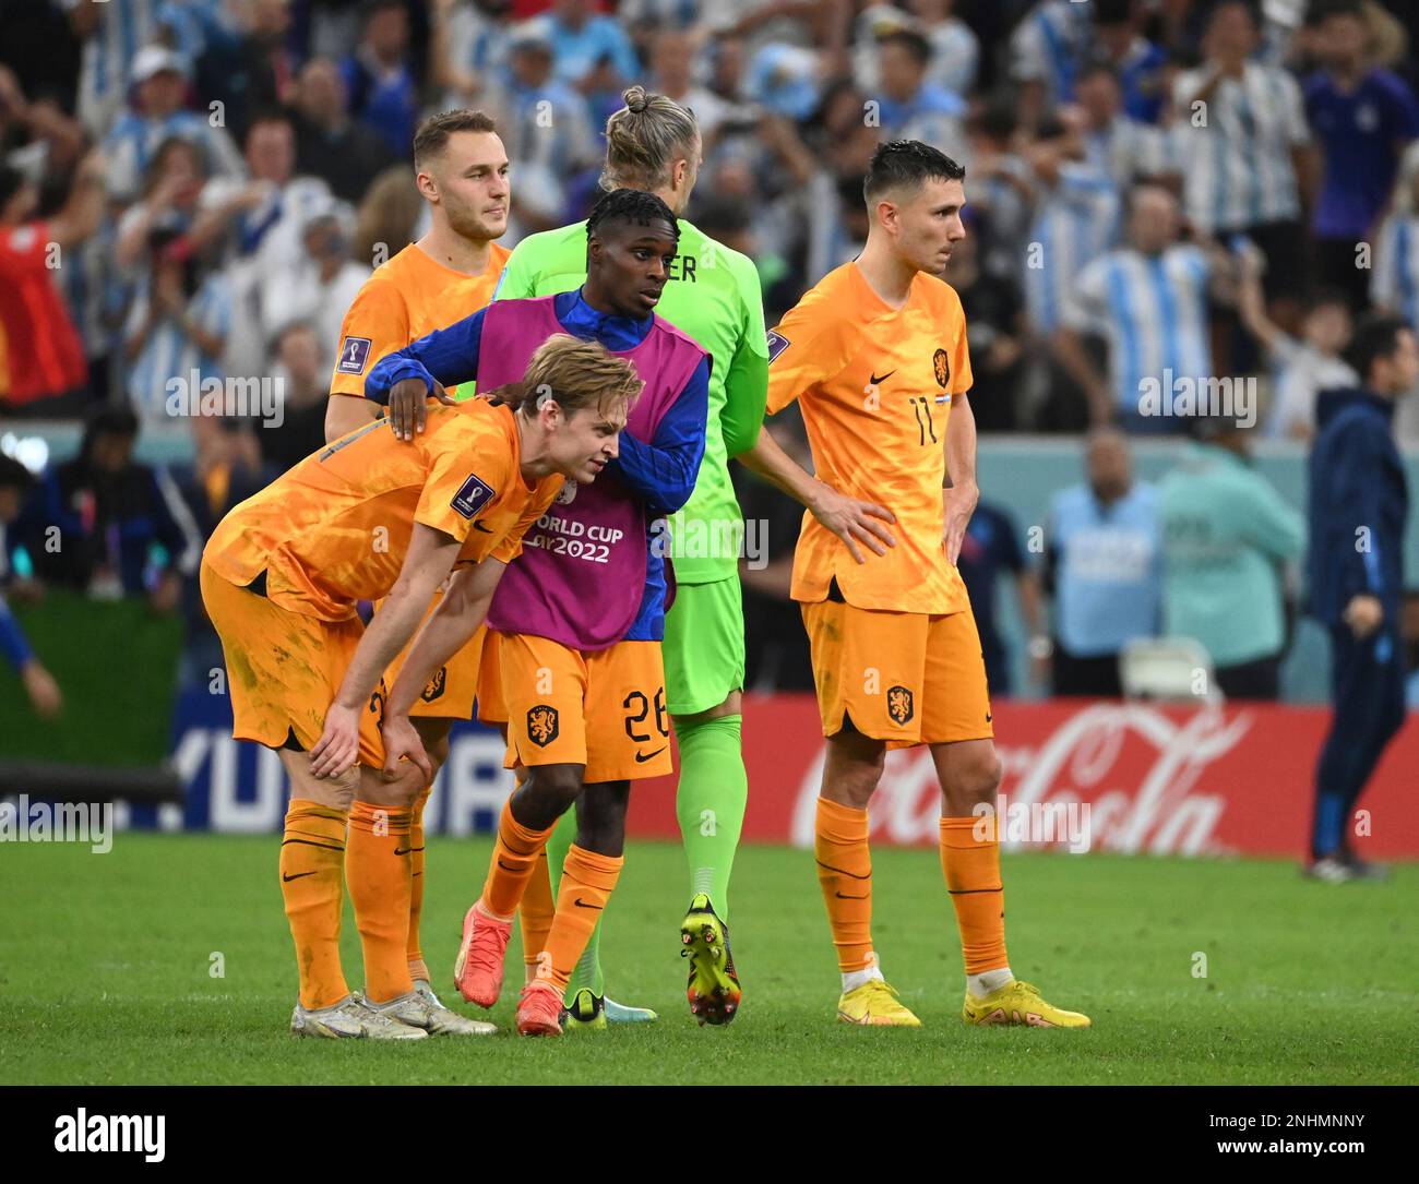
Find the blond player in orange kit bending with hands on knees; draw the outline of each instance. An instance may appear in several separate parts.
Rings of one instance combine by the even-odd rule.
[[[207,542],[201,597],[226,655],[233,736],[274,749],[291,778],[280,871],[298,1035],[492,1031],[430,1004],[410,977],[410,810],[431,770],[421,756],[385,767],[380,675],[446,579],[426,632],[481,624],[563,478],[592,482],[619,454],[640,387],[624,359],[555,335],[521,383],[497,391],[505,401],[438,406],[412,444],[370,423],[241,502]],[[356,603],[380,597],[366,630]],[[362,995],[341,968],[342,872]]]

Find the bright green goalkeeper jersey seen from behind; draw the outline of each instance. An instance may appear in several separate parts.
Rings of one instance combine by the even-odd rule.
[[[586,223],[524,238],[495,301],[569,292],[586,282]],[[656,312],[710,350],[710,417],[695,492],[671,516],[675,579],[707,584],[738,574],[744,520],[729,458],[753,447],[763,423],[769,349],[753,262],[680,218],[680,252]]]

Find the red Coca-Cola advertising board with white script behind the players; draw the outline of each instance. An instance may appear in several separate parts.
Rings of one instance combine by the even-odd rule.
[[[1287,856],[1307,849],[1315,761],[1331,719],[1324,708],[1054,699],[1002,700],[993,709],[1006,849]],[[745,839],[812,845],[823,746],[810,695],[745,696]],[[1386,750],[1358,811],[1357,851],[1419,858],[1413,720]],[[939,812],[929,752],[888,753],[870,808],[873,841],[934,847]],[[673,778],[636,784],[629,830],[678,837]]]

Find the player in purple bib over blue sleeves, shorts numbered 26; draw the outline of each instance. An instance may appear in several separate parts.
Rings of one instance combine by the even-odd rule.
[[[366,387],[400,384],[390,410],[400,423],[406,413],[396,401],[409,394],[421,401],[436,379],[475,374],[480,387],[497,383],[558,330],[595,336],[646,381],[620,457],[595,489],[568,485],[528,533],[526,550],[488,613],[492,652],[484,657],[478,715],[507,726],[508,763],[521,763],[528,778],[502,811],[487,883],[464,920],[455,967],[464,998],[482,1007],[497,1001],[512,913],[553,824],[578,807],[551,932],[518,1003],[518,1031],[528,1035],[561,1032],[572,971],[620,875],[630,781],[671,771],[660,655],[666,573],[650,532],[658,515],[683,506],[694,489],[710,383],[705,350],[653,312],[677,238],[675,218],[658,197],[609,193],[586,224],[580,289],[499,301],[386,359]],[[396,743],[409,746],[400,752],[417,743],[400,713],[464,640],[430,628],[414,644],[390,693],[390,756]],[[501,688],[490,686],[491,671],[501,672]]]

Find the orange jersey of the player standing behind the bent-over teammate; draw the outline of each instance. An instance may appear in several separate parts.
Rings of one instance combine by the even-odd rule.
[[[341,352],[331,376],[331,394],[365,397],[365,377],[385,354],[447,329],[492,301],[492,289],[512,252],[488,244],[482,275],[444,267],[410,242],[365,281],[341,325]],[[473,384],[464,394],[473,393]],[[457,397],[457,389],[450,390]]]

